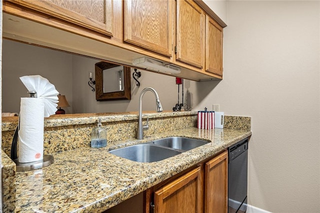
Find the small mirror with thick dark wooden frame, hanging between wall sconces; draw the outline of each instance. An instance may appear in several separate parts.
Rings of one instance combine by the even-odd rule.
[[[100,61],[95,63],[95,99],[130,100],[130,67]]]

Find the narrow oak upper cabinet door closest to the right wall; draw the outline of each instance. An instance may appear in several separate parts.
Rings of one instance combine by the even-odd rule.
[[[222,76],[222,27],[206,15],[205,71]]]

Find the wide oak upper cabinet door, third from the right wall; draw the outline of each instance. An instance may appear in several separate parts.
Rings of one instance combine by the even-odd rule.
[[[172,55],[172,1],[125,0],[124,41]]]

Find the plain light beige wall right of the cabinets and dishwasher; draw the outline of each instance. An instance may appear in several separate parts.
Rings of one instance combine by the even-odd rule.
[[[271,212],[320,209],[319,10],[227,1],[223,80],[191,81],[195,108],[252,116],[248,202]]]

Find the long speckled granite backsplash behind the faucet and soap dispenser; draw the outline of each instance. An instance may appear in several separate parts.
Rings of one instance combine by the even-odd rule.
[[[90,146],[91,131],[96,127],[98,117],[102,119],[102,127],[106,128],[108,143],[135,138],[137,114],[92,113],[84,117],[50,116],[44,121],[43,153]],[[142,117],[143,123],[145,118],[149,118],[149,129],[144,130],[144,136],[196,125],[194,111],[148,113]],[[17,117],[9,119],[2,120],[2,150],[7,155],[10,155],[12,137],[17,125]]]

